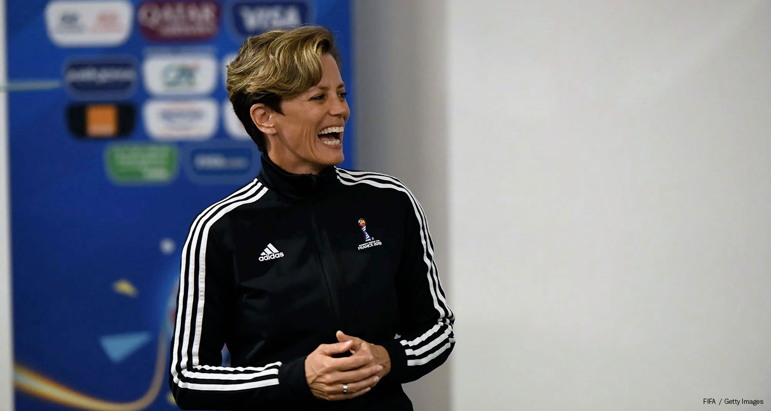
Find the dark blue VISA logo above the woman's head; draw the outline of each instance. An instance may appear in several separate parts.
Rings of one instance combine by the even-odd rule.
[[[271,29],[310,22],[305,2],[234,2],[231,16],[238,35],[248,37]]]

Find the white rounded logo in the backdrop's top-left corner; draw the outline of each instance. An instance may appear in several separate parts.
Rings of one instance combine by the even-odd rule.
[[[53,0],[45,6],[45,29],[60,47],[114,47],[129,39],[133,7],[126,0]]]

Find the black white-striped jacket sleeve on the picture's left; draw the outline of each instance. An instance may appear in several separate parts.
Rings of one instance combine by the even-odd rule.
[[[198,217],[182,252],[169,384],[181,409],[263,409],[313,398],[305,357],[255,367],[223,367],[234,302],[231,252]]]

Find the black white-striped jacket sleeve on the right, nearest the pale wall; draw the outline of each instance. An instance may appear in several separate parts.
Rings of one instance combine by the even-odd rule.
[[[406,238],[396,275],[401,335],[380,344],[391,357],[389,376],[402,383],[441,366],[455,345],[455,315],[439,283],[428,222],[409,190],[406,196]]]

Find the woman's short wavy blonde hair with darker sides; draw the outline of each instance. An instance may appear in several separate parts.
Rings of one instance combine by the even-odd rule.
[[[251,120],[251,106],[264,103],[281,113],[282,98],[297,96],[321,81],[325,54],[340,65],[332,32],[304,25],[250,37],[227,65],[227,97],[260,151],[265,151],[265,136]]]

